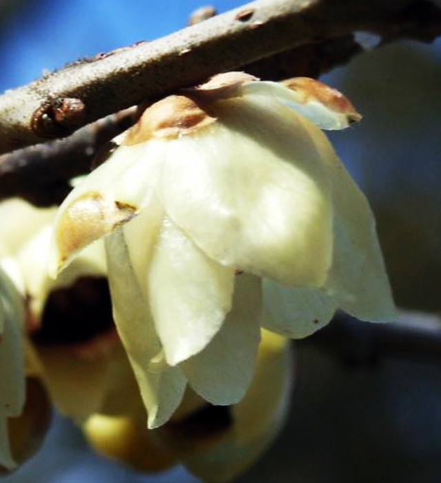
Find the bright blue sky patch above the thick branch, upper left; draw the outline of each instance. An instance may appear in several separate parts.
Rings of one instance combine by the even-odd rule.
[[[219,0],[216,8],[225,12],[243,3]],[[80,57],[179,30],[201,5],[201,0],[30,1],[0,33],[0,90]]]

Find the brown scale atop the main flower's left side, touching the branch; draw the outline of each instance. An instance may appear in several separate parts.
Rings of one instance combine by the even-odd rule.
[[[139,121],[127,130],[122,146],[132,146],[152,137],[177,137],[212,124],[211,117],[198,104],[182,95],[173,95],[147,108]]]

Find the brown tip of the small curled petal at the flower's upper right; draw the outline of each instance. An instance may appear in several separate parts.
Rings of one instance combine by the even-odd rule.
[[[334,112],[347,115],[349,124],[361,119],[361,115],[358,114],[349,99],[339,90],[331,88],[325,83],[309,77],[293,77],[282,83],[299,95],[300,103],[316,100]]]

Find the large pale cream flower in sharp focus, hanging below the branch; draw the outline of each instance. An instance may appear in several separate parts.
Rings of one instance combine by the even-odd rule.
[[[240,401],[260,325],[304,337],[337,307],[393,319],[373,215],[320,131],[358,119],[312,79],[219,75],[148,107],[65,199],[52,273],[104,237],[150,427],[170,418],[187,382],[213,404]],[[265,287],[288,317],[261,317],[263,278],[289,286]]]

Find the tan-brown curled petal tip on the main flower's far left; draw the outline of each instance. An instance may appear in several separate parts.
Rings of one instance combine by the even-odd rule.
[[[136,213],[136,206],[105,200],[95,192],[74,199],[61,216],[55,233],[60,264],[81,248],[130,221]]]

